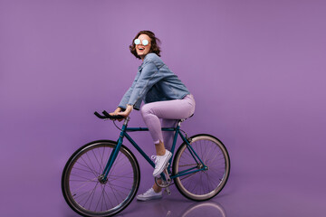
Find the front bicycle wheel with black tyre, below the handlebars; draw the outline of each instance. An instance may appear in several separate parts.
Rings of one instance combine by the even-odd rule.
[[[113,141],[94,141],[68,160],[62,172],[62,193],[73,211],[82,216],[111,216],[134,198],[139,188],[139,164],[126,146],[121,146],[108,181],[99,181],[115,146]]]

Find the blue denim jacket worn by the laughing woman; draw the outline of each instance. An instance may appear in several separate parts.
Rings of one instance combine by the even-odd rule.
[[[124,94],[119,107],[126,109],[132,105],[139,109],[145,103],[171,99],[183,99],[190,94],[186,86],[155,53],[149,53],[139,66],[139,71],[131,87]]]

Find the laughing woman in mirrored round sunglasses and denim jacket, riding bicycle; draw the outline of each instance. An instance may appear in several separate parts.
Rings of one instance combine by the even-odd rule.
[[[179,119],[188,118],[195,111],[195,99],[189,90],[159,58],[158,42],[158,38],[150,31],[140,31],[136,35],[129,49],[136,58],[142,60],[142,64],[118,108],[110,113],[127,118],[133,109],[139,110],[142,100],[145,102],[140,110],[156,148],[157,156],[152,156],[155,159],[154,177],[163,172],[171,157],[165,145],[171,146],[173,132],[163,134],[161,127],[176,127]],[[154,184],[146,193],[139,194],[137,199],[159,199],[162,197],[161,190]]]

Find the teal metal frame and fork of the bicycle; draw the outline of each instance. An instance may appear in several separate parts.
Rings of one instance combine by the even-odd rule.
[[[128,122],[129,122],[129,118],[126,118],[121,131],[120,131],[120,137],[117,141],[117,146],[114,147],[113,151],[110,154],[109,160],[107,165],[105,166],[105,169],[103,171],[103,174],[101,175],[102,180],[107,180],[107,177],[110,173],[110,168],[113,165],[116,157],[118,156],[118,153],[120,151],[120,147],[122,146],[122,142],[123,142],[123,138],[126,137],[129,142],[131,143],[132,146],[134,146],[140,153],[141,156],[143,156],[148,162],[149,165],[152,165],[153,167],[155,167],[154,162],[149,158],[148,155],[146,155],[146,153],[137,145],[137,143],[129,136],[129,134],[127,132],[136,132],[136,131],[149,131],[148,127],[128,127]],[[200,167],[198,167],[197,165],[194,167],[191,167],[187,170],[184,171],[180,171],[177,173],[177,175],[171,175],[170,178],[174,179],[177,178],[179,176],[182,175],[189,175],[189,174],[193,174],[193,173],[197,173],[199,171],[203,171],[203,170],[207,170],[207,166],[204,164],[204,162],[200,159],[199,156],[197,156],[197,153],[195,152],[195,150],[193,149],[192,146],[190,146],[191,142],[191,138],[188,138],[187,135],[186,137],[182,134],[181,130],[180,130],[180,124],[181,124],[182,120],[180,120],[177,124],[177,127],[162,127],[162,131],[174,131],[176,132],[174,135],[174,139],[173,139],[173,144],[172,144],[172,148],[171,148],[171,153],[172,156],[174,154],[175,148],[176,148],[176,144],[177,144],[177,135],[179,135],[179,137],[181,137],[181,139],[187,144],[187,149],[189,150],[191,156],[194,157],[194,160],[196,161],[197,165],[199,165],[199,163],[202,165]],[[172,158],[171,157],[169,159],[169,165],[168,165],[168,173],[170,174],[170,167],[171,167],[171,162],[172,162]]]

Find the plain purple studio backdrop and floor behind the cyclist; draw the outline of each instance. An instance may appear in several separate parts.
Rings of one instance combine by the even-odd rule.
[[[325,216],[325,6],[0,0],[1,215],[76,216],[62,198],[63,166],[79,146],[117,138],[92,113],[115,109],[141,63],[129,43],[149,29],[197,100],[183,128],[216,135],[230,152],[229,182],[210,203],[227,216]],[[144,126],[139,112],[130,126]],[[154,153],[147,133],[135,137]],[[142,193],[152,171],[139,164]],[[195,216],[204,213],[198,204],[209,205],[172,190],[121,216],[179,216],[189,207]]]

